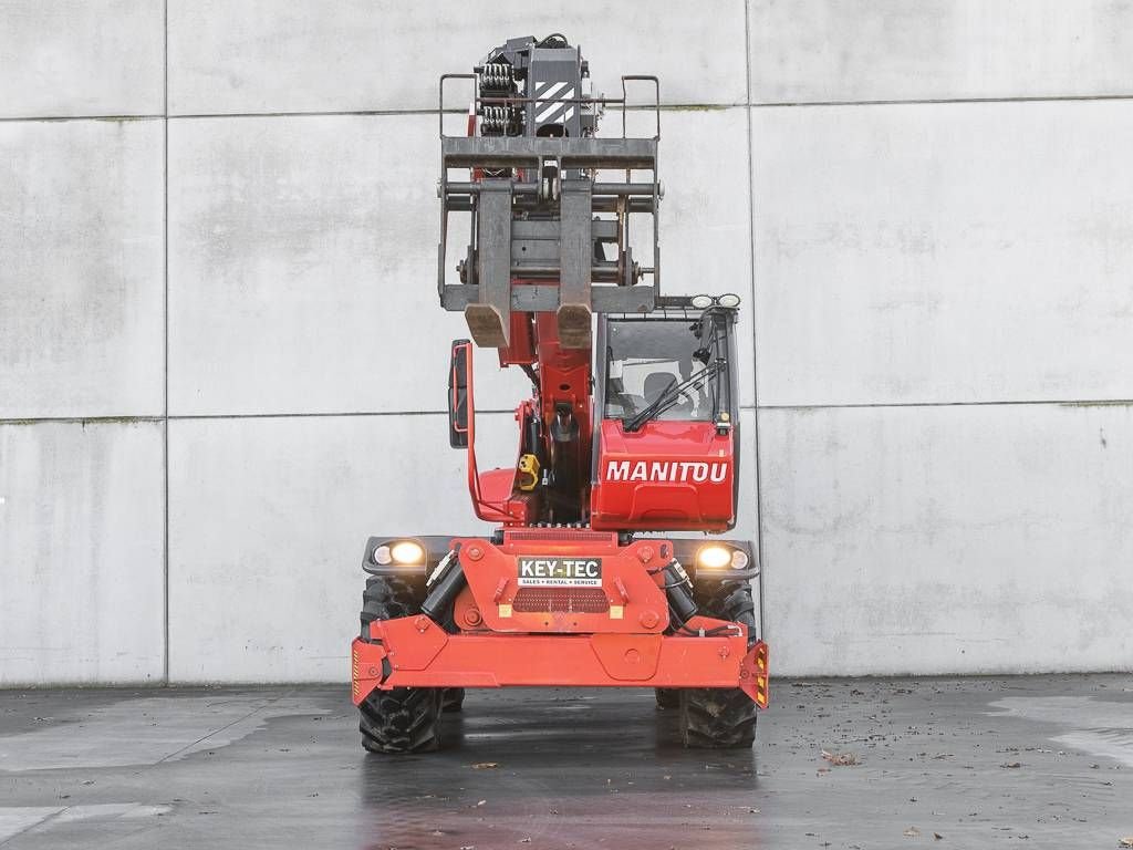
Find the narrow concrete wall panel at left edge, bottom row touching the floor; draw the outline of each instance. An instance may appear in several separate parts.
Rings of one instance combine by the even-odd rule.
[[[162,425],[0,424],[0,686],[154,682]]]

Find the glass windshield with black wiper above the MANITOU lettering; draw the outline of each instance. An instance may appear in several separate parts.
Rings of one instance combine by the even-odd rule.
[[[611,320],[606,334],[607,419],[636,431],[650,419],[715,422],[730,410],[727,318]]]

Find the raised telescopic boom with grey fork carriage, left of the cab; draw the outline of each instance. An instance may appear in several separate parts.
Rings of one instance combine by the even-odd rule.
[[[445,136],[445,82],[470,79],[468,136]],[[540,469],[537,492],[514,492],[514,469],[479,473],[475,453],[471,346],[467,362],[469,491],[477,516],[505,524],[582,522],[590,487],[591,315],[649,312],[657,304],[657,138],[625,136],[621,99],[594,96],[589,67],[561,35],[512,39],[472,74],[441,78],[441,245],[438,292],[462,311],[477,346],[520,366],[535,398],[517,409],[520,456]],[[607,104],[622,107],[622,137],[597,138]],[[450,171],[467,170],[465,179]],[[599,179],[616,169],[622,180]],[[645,181],[631,179],[647,173]],[[449,213],[471,213],[469,245],[446,280]],[[630,221],[649,215],[654,256],[642,269],[630,248]],[[608,256],[607,258],[607,255]],[[648,277],[649,283],[642,279]],[[454,349],[454,362],[457,350]],[[536,491],[535,487],[530,488]]]

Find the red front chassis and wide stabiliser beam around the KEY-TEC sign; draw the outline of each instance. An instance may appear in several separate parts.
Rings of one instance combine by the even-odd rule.
[[[698,614],[672,628],[664,567],[681,554],[676,543],[674,551],[668,541],[623,545],[615,534],[536,529],[505,532],[494,542],[452,539],[467,586],[450,615],[367,623],[351,646],[353,703],[395,688],[574,686],[739,688],[766,707],[767,645],[748,626]],[[585,611],[573,610],[578,603],[561,587],[540,588],[548,597],[568,594],[557,610],[520,610],[527,590],[518,586],[517,562],[534,554],[600,559],[600,585],[578,597]]]

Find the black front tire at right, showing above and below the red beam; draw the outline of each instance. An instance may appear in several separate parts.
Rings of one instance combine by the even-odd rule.
[[[756,606],[747,583],[698,583],[693,595],[700,613],[748,627],[756,641]],[[681,740],[685,747],[736,749],[756,740],[756,704],[739,688],[687,688],[680,691]]]

